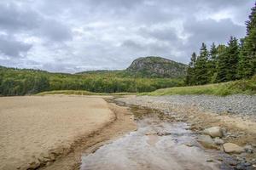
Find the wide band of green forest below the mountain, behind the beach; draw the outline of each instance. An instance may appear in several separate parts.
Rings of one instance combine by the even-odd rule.
[[[158,88],[183,86],[183,79],[131,77],[122,71],[88,74],[0,67],[0,95],[38,94],[52,90],[86,90],[96,93],[150,92]]]

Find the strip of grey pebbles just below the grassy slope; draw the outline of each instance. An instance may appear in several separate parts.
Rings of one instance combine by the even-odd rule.
[[[256,117],[256,95],[236,94],[226,97],[212,95],[139,96],[120,100],[128,104],[144,106],[155,104],[160,105],[160,107],[161,105],[195,105],[201,111]]]

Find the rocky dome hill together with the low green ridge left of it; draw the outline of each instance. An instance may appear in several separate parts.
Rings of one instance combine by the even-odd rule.
[[[159,77],[180,78],[185,77],[187,65],[177,63],[161,57],[141,57],[132,61],[126,70],[120,71],[83,71],[77,74],[102,74],[115,77]]]

